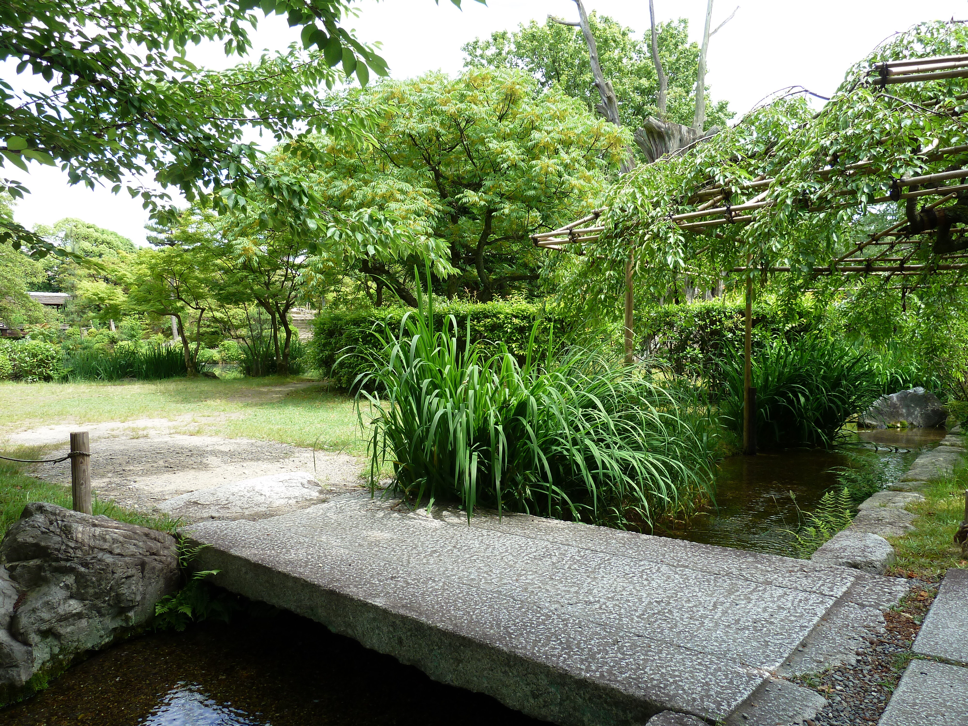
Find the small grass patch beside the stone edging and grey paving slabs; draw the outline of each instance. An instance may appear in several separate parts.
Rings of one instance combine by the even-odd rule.
[[[953,542],[964,518],[966,489],[966,466],[928,483],[921,492],[924,500],[908,506],[918,515],[912,523],[916,529],[891,539],[896,560],[890,574],[937,582],[946,570],[968,566],[961,557],[961,547]]]

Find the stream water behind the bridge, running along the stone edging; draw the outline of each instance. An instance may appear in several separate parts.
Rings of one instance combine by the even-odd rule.
[[[685,529],[667,534],[794,557],[791,537],[784,530],[797,529],[798,507],[813,510],[837,485],[831,469],[849,466],[852,457],[873,459],[892,481],[946,433],[944,429],[867,430],[833,451],[787,449],[730,457],[719,465],[715,506],[693,517]]]

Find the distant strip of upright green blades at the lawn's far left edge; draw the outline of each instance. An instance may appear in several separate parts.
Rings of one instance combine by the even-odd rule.
[[[185,354],[177,346],[118,346],[113,350],[78,350],[65,361],[67,378],[76,380],[161,380],[188,375]]]

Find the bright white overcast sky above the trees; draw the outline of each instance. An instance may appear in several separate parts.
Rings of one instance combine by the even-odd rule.
[[[588,12],[611,15],[636,30],[649,28],[646,0],[585,0]],[[716,0],[715,27],[740,5],[736,16],[711,40],[707,83],[713,99],[726,99],[738,117],[771,92],[802,85],[830,96],[851,64],[895,32],[923,20],[968,17],[966,0]],[[544,22],[547,15],[577,19],[571,0],[490,0],[488,6],[464,0],[458,10],[449,0],[362,0],[359,17],[346,23],[361,40],[381,42],[381,54],[391,76],[417,76],[443,70],[457,74],[463,68],[461,45],[496,30],[515,29],[530,19]],[[704,0],[655,0],[657,19],[688,17],[689,33],[698,39],[705,21]],[[298,33],[277,16],[259,24],[254,47],[284,48]],[[221,48],[199,48],[194,59],[210,67],[228,65]],[[235,62],[235,61],[232,61]],[[13,80],[14,65],[0,65],[0,74]],[[15,87],[17,86],[14,83]],[[113,229],[136,243],[144,243],[147,213],[140,202],[122,190],[90,191],[71,187],[59,168],[30,165],[19,178],[33,194],[15,206],[15,219],[25,227],[52,224],[77,217]]]

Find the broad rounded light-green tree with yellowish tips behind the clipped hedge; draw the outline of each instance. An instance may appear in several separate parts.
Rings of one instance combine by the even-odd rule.
[[[430,240],[430,256],[449,265],[437,271],[449,297],[490,300],[537,280],[544,260],[529,234],[588,209],[628,142],[520,71],[388,80],[347,102],[379,114],[372,135],[320,137],[321,153],[299,161],[301,173],[334,209],[378,209]],[[415,259],[374,253],[358,272],[412,303],[405,282]]]

